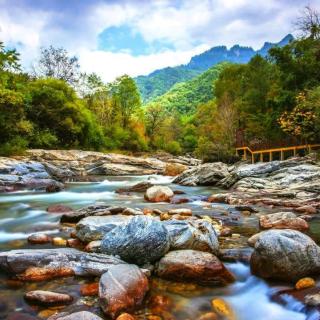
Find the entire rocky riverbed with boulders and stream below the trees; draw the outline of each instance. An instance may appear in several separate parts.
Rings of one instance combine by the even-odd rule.
[[[0,159],[0,319],[320,319],[320,166]]]

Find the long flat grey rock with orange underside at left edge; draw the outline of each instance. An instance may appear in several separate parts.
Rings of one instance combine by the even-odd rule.
[[[0,253],[0,269],[23,281],[42,281],[71,275],[99,276],[122,260],[72,248],[23,249]]]

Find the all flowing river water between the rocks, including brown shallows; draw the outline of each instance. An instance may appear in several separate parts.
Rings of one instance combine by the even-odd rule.
[[[236,240],[238,246],[243,246],[250,234],[257,232],[257,218],[241,217],[239,212],[226,205],[205,204],[202,196],[220,192],[212,187],[182,187],[171,185],[171,178],[163,176],[140,177],[105,177],[95,183],[69,183],[63,192],[42,193],[35,191],[15,192],[0,195],[0,250],[17,248],[45,248],[45,246],[31,246],[26,238],[29,234],[44,231],[53,235],[67,236],[67,230],[61,230],[58,224],[59,215],[49,214],[46,208],[51,204],[64,204],[74,209],[96,202],[110,205],[121,205],[132,208],[157,207],[165,209],[178,207],[170,204],[150,204],[144,201],[142,194],[121,195],[114,191],[120,187],[127,187],[140,181],[149,180],[156,184],[166,184],[174,190],[184,191],[183,197],[192,198],[193,202],[180,205],[191,207],[195,214],[205,214],[226,219],[233,231],[242,234]],[[229,215],[226,216],[225,212]],[[227,218],[226,218],[227,217]],[[230,244],[229,244],[230,245]],[[232,245],[232,244],[231,244]],[[166,295],[172,301],[168,313],[162,318],[154,319],[196,319],[199,315],[210,311],[210,301],[213,298],[223,298],[230,304],[238,320],[303,320],[313,319],[303,313],[303,306],[295,301],[289,301],[287,306],[272,302],[270,295],[274,288],[263,280],[250,274],[249,266],[241,263],[226,264],[234,273],[237,281],[224,288],[200,288],[191,284],[176,284],[153,279],[151,295]],[[84,303],[89,310],[99,312],[94,300],[80,297],[80,285],[92,280],[76,277],[57,279],[45,283],[16,283],[9,281],[6,275],[0,275],[0,319],[7,319],[9,314],[21,312],[29,315],[40,315],[46,318],[53,310],[29,306],[23,300],[23,294],[28,290],[45,289],[68,292],[78,299],[77,305]],[[149,294],[150,295],[150,294]],[[139,319],[148,319],[147,315],[156,313],[148,305],[137,312]],[[101,315],[101,314],[100,314]],[[168,318],[169,317],[169,318]],[[18,318],[15,318],[18,319]],[[221,318],[223,319],[223,317]],[[317,318],[314,318],[317,319]]]

